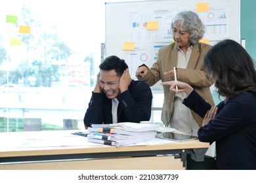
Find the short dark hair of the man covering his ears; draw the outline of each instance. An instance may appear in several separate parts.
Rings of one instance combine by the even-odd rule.
[[[128,65],[125,63],[124,59],[120,59],[117,56],[109,56],[100,63],[99,67],[102,71],[111,71],[115,69],[117,76],[121,77],[123,71],[128,68]]]

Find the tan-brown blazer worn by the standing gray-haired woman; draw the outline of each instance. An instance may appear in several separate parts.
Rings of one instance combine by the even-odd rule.
[[[194,90],[205,99],[205,101],[214,106],[215,104],[209,88],[213,85],[214,80],[209,80],[203,71],[203,58],[210,48],[211,45],[204,44],[202,42],[194,44],[190,60],[188,62],[188,68],[177,68],[177,80],[190,84],[190,86],[192,86]],[[170,71],[173,67],[177,67],[177,58],[178,48],[175,42],[160,48],[158,52],[158,60],[154,63],[152,68],[148,67],[148,73],[146,76],[139,78],[139,80],[143,80],[150,86],[153,86],[159,80],[162,82],[171,80],[171,78],[164,75],[164,73],[165,71]],[[173,116],[173,101],[175,98],[175,93],[169,90],[169,88],[170,86],[163,86],[164,100],[161,112],[161,121],[166,126],[169,125],[170,119]],[[198,125],[202,127],[203,119],[193,111],[191,112]]]

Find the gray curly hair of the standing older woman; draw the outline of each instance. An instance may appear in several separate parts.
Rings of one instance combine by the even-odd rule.
[[[181,30],[186,30],[190,33],[190,42],[195,44],[203,38],[205,33],[205,26],[202,20],[199,18],[198,14],[192,11],[182,11],[179,12],[173,22],[171,23],[171,30],[175,24],[181,25]]]

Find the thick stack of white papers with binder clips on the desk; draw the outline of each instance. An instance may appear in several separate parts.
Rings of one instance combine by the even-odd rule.
[[[89,134],[87,138],[89,142],[125,146],[152,140],[156,138],[156,133],[159,129],[158,125],[131,122],[93,124],[92,127],[88,127]]]

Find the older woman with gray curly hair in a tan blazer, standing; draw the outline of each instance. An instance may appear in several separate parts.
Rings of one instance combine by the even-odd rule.
[[[159,80],[162,82],[175,80],[176,73],[177,80],[190,84],[205,101],[214,106],[210,91],[214,80],[203,70],[203,59],[211,45],[199,42],[205,33],[202,20],[195,12],[182,11],[173,18],[171,30],[175,42],[160,48],[158,59],[151,68],[140,65],[136,72],[137,78],[153,86]],[[182,105],[186,95],[175,93],[169,90],[168,86],[163,86],[163,93],[161,112],[163,124],[184,133],[197,135],[203,119]]]

